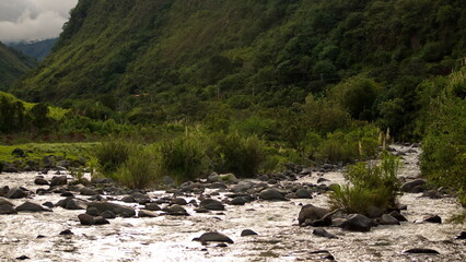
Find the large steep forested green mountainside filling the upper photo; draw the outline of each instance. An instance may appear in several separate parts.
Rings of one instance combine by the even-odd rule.
[[[106,94],[119,111],[200,120],[219,100],[290,107],[357,76],[380,88],[354,99],[352,117],[410,133],[417,86],[465,56],[463,0],[80,0],[53,55],[11,91],[61,103]]]

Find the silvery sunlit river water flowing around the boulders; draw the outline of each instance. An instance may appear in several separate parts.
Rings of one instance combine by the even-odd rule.
[[[400,176],[419,175],[418,148],[396,146],[407,153]],[[0,186],[23,186],[32,191],[36,174],[1,174]],[[51,179],[53,175],[46,175]],[[319,177],[328,183],[341,183],[341,172],[313,174],[300,182],[314,182]],[[152,198],[166,195],[151,192]],[[222,194],[218,196],[222,199]],[[33,195],[38,203],[56,203],[62,198]],[[187,198],[189,201],[189,198]],[[24,200],[14,200],[19,205]],[[198,214],[187,206],[190,216],[159,216],[155,218],[116,218],[109,225],[81,226],[78,215],[83,211],[61,207],[51,213],[20,213],[0,216],[0,261],[16,261],[27,255],[28,261],[326,261],[327,250],[337,261],[466,261],[465,240],[455,240],[465,226],[453,224],[418,224],[426,215],[443,219],[461,207],[453,198],[426,199],[420,194],[404,194],[400,204],[408,206],[403,214],[408,222],[400,226],[378,226],[370,233],[343,231],[326,228],[338,236],[327,239],[312,234],[311,227],[299,227],[296,217],[301,204],[325,207],[327,196],[289,202],[255,201],[244,206],[228,205],[222,213]],[[136,204],[133,205],[137,206]],[[70,229],[74,235],[60,236]],[[258,236],[241,237],[243,229],[253,229]],[[217,230],[234,240],[229,247],[215,243],[202,246],[193,241],[206,231]],[[37,236],[44,236],[37,238]],[[411,248],[431,248],[440,254],[405,254]]]

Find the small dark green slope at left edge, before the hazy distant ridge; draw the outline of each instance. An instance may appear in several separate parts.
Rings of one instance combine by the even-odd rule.
[[[34,59],[0,43],[0,90],[13,85],[36,64]]]

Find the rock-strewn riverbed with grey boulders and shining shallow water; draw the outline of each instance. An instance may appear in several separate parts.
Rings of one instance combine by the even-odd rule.
[[[327,186],[345,182],[336,166],[292,168],[257,180],[211,176],[149,192],[121,190],[106,180],[72,186],[72,177],[54,179],[60,176],[55,171],[42,178],[0,174],[0,195],[10,196],[0,198],[0,211],[11,206],[5,201],[11,213],[20,211],[0,215],[0,261],[466,261],[466,240],[455,239],[465,226],[445,222],[462,207],[446,191],[409,186],[419,176],[417,146],[392,151],[404,162],[400,179],[410,193],[399,203],[407,221],[369,231],[299,226],[303,205],[327,207]],[[54,187],[37,184],[48,182]],[[43,211],[21,211],[26,201]],[[46,202],[48,207],[42,205]],[[436,216],[441,223],[426,222]],[[219,234],[203,235],[212,231]]]

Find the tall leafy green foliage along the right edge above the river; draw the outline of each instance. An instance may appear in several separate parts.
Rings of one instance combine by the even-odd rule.
[[[436,95],[422,93],[423,99],[430,98],[426,108],[428,117],[420,121],[424,127],[422,175],[439,186],[455,190],[466,189],[466,102],[455,92],[457,86],[465,86],[465,72],[463,68],[453,73],[446,84],[438,85]]]

